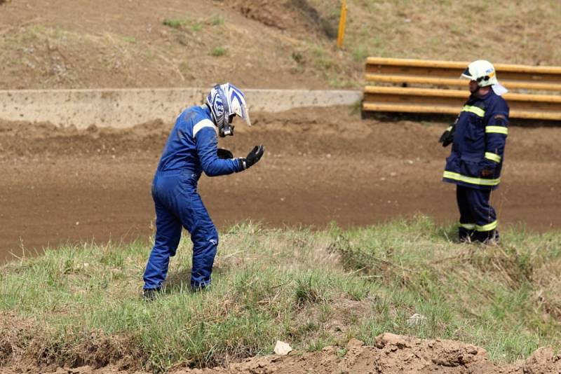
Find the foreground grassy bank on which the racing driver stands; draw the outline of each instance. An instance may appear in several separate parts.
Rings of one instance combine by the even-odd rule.
[[[489,247],[452,237],[424,217],[353,230],[241,224],[221,234],[210,289],[189,291],[186,237],[152,303],[140,299],[147,244],[47,250],[1,268],[0,315],[28,327],[0,343],[62,364],[119,346],[108,359],[125,352],[155,371],[270,353],[276,340],[343,349],[383,332],[462,340],[499,362],[559,349],[561,233],[511,228]],[[414,313],[424,320],[408,323]]]

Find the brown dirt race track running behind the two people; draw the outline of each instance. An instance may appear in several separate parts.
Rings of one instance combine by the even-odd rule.
[[[457,219],[454,187],[441,183],[450,151],[445,124],[360,120],[349,109],[257,113],[222,139],[235,155],[267,153],[248,172],[201,178],[217,226],[370,225],[417,212]],[[79,240],[146,240],[154,211],[150,183],[171,124],[130,130],[0,123],[0,257]],[[513,127],[503,183],[494,193],[502,226],[561,227],[557,128]]]

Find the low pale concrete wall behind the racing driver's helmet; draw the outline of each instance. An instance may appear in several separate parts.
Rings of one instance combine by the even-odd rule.
[[[353,90],[244,90],[250,111],[304,106],[353,105]],[[208,89],[0,90],[0,119],[55,125],[131,127],[160,118],[173,121],[182,109],[203,102]]]

